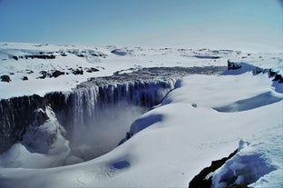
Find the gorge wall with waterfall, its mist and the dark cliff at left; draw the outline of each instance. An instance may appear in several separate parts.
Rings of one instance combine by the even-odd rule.
[[[107,153],[125,136],[132,122],[161,103],[174,89],[176,79],[135,80],[78,86],[72,92],[54,92],[44,97],[33,95],[2,100],[0,103],[1,153],[22,142],[31,124],[40,126],[36,111],[53,109],[66,129],[73,153],[88,160]],[[43,120],[44,121],[44,120]]]

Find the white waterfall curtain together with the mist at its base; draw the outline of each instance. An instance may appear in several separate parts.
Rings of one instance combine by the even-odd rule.
[[[57,115],[67,130],[73,154],[84,161],[112,150],[132,121],[161,103],[175,82],[175,79],[125,81],[91,84],[75,90],[69,96],[72,101],[69,110]]]

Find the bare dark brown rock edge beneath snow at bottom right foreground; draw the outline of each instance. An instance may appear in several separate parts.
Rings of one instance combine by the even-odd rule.
[[[212,177],[209,179],[206,179],[205,177],[217,169],[219,169],[227,160],[232,158],[238,150],[235,150],[233,153],[230,153],[228,157],[224,157],[217,161],[212,161],[210,167],[204,168],[202,171],[200,171],[199,174],[194,176],[194,178],[189,183],[189,188],[210,188],[212,183]]]

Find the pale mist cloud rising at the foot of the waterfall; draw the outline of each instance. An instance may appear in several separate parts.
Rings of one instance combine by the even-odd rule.
[[[144,107],[125,102],[103,106],[85,120],[85,124],[73,124],[72,130],[68,131],[71,153],[83,161],[108,153],[125,137],[132,122],[145,111]]]

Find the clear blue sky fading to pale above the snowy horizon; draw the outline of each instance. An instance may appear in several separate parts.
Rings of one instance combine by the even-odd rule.
[[[0,42],[283,50],[283,0],[0,0]]]

